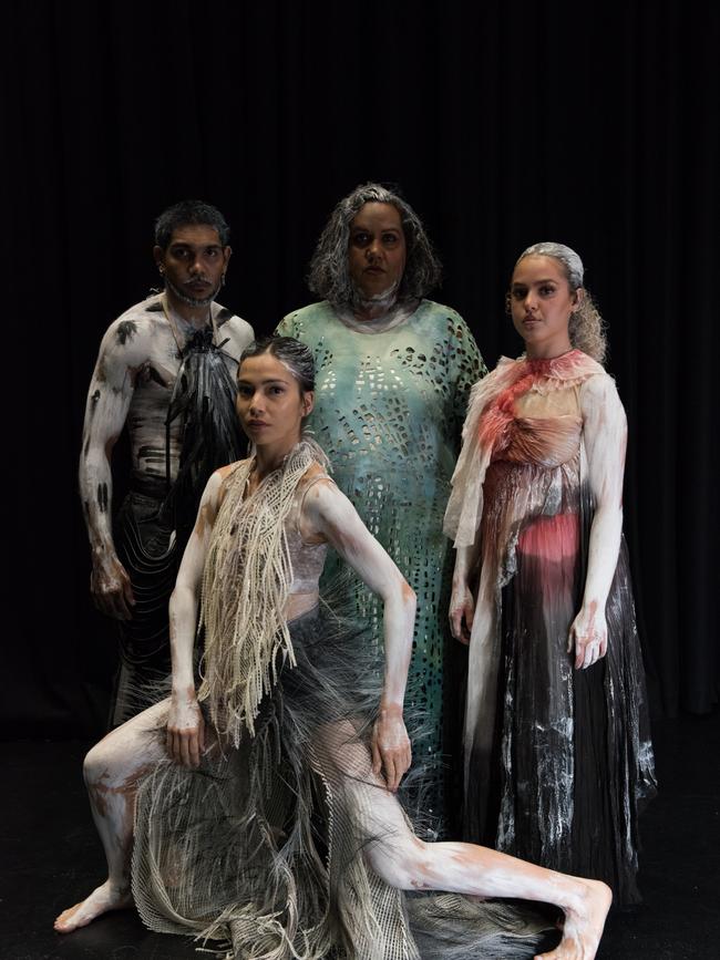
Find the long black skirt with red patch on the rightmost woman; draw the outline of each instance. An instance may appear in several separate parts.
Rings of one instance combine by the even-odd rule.
[[[514,472],[503,468],[503,479]],[[505,483],[505,488],[508,484]],[[567,651],[580,609],[589,492],[524,518],[498,589],[500,662],[491,755],[470,768],[466,834],[551,869],[607,882],[640,902],[638,815],[656,792],[627,548],[606,606],[607,654],[576,670]]]

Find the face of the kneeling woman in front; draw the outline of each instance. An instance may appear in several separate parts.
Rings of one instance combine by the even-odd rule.
[[[313,394],[271,353],[248,357],[237,373],[237,414],[253,443],[290,450],[300,438],[302,417],[312,410]]]

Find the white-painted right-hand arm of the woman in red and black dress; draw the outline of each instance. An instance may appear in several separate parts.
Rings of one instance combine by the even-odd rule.
[[[580,393],[588,482],[595,500],[583,606],[570,627],[568,651],[575,667],[590,667],[607,652],[605,605],[623,536],[623,475],[627,421],[607,375],[592,376]]]

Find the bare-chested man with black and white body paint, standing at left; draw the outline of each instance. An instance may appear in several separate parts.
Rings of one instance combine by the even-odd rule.
[[[112,723],[148,705],[169,673],[167,602],[199,498],[241,453],[235,373],[254,333],[215,302],[228,238],[219,210],[199,200],[161,214],[153,255],[164,290],[111,323],[90,383],[80,494],[93,601],[121,627]],[[130,493],[113,528],[111,457],[125,425]]]

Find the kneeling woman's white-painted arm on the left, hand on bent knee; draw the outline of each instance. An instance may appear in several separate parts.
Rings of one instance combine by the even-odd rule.
[[[195,691],[193,650],[203,567],[227,469],[223,467],[216,471],[207,482],[169,599],[173,685],[167,715],[167,752],[173,760],[185,766],[197,766],[205,749],[205,725]]]

